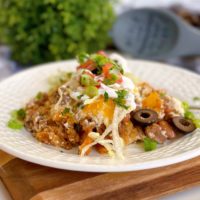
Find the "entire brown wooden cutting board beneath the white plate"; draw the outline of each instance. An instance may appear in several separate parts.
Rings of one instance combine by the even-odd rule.
[[[200,184],[200,157],[150,170],[86,173],[32,164],[0,151],[0,165],[14,200],[148,200]]]

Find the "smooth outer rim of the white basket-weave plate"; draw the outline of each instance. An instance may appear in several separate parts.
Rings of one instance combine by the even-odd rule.
[[[163,63],[159,63],[159,62],[153,62],[153,61],[144,61],[144,60],[132,60],[132,59],[127,59],[129,61],[132,62],[139,62],[139,63],[151,63],[151,64],[155,64],[155,65],[159,65],[160,67],[167,67],[171,69],[171,66],[173,65],[168,65],[168,64],[163,64]],[[31,69],[27,69],[24,70],[22,72],[19,72],[3,81],[0,82],[0,86],[2,84],[5,84],[7,81],[13,79],[14,77],[18,77],[21,76],[24,73],[33,71],[33,70],[38,70],[39,68],[43,68],[43,67],[47,67],[49,65],[64,65],[67,64],[69,62],[74,62],[74,60],[68,60],[68,61],[60,61],[60,62],[51,62],[51,63],[47,63],[47,64],[41,64],[41,65],[37,65],[34,68]],[[196,73],[193,73],[189,70],[186,69],[180,69],[177,68],[176,66],[173,66],[175,68],[173,68],[173,70],[177,71],[177,72],[184,72],[186,74],[192,74],[193,76],[196,76],[199,78],[200,80],[200,76]],[[11,155],[14,155],[18,158],[21,158],[23,160],[29,161],[29,162],[33,162],[36,164],[40,164],[40,165],[44,165],[44,166],[49,166],[49,167],[53,167],[53,168],[59,168],[59,169],[65,169],[65,170],[74,170],[74,171],[86,171],[86,172],[125,172],[125,171],[134,171],[134,170],[144,170],[144,169],[151,169],[151,168],[156,168],[156,167],[162,167],[162,166],[167,166],[167,165],[171,165],[171,164],[175,164],[175,163],[179,163],[194,157],[197,157],[200,155],[200,147],[193,149],[193,150],[189,150],[187,152],[183,152],[181,154],[177,154],[175,156],[170,156],[170,157],[165,157],[162,159],[157,159],[157,160],[152,160],[152,161],[145,161],[145,162],[138,162],[138,163],[131,163],[131,164],[126,164],[124,165],[122,164],[117,164],[117,165],[97,165],[97,164],[77,164],[76,162],[61,162],[61,161],[56,161],[56,162],[52,162],[49,160],[44,160],[40,157],[36,157],[33,155],[27,155],[24,152],[21,152],[17,149],[12,149],[9,146],[7,146],[6,144],[1,143],[0,140],[0,149],[2,149],[3,151],[10,153]],[[80,158],[82,159],[82,158]]]

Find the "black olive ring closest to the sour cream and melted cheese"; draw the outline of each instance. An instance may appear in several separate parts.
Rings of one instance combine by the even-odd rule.
[[[152,124],[158,120],[158,114],[150,109],[140,109],[133,114],[133,119],[141,124]]]

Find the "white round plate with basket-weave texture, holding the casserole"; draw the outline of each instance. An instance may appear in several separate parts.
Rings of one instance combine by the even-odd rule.
[[[77,149],[60,152],[60,149],[41,144],[29,132],[12,131],[6,124],[10,111],[22,107],[38,91],[48,88],[47,78],[58,69],[75,70],[75,61],[42,65],[26,70],[0,83],[0,148],[16,157],[40,165],[90,172],[119,172],[165,166],[200,155],[200,131],[185,135],[155,151],[143,152],[141,147],[130,145],[125,149],[124,160],[91,154],[81,158]],[[200,76],[155,62],[129,60],[131,71],[141,79],[167,91],[181,100],[191,102],[200,96]]]

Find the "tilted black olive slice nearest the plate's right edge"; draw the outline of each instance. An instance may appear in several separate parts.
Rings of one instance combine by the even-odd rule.
[[[172,122],[178,130],[184,133],[190,133],[196,129],[193,122],[189,119],[185,119],[184,117],[173,117]]]

